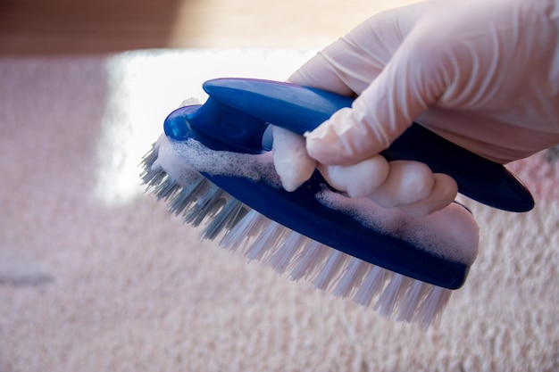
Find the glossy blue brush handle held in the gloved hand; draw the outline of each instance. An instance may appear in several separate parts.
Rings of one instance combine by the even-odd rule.
[[[263,123],[304,134],[353,103],[352,98],[321,89],[261,79],[213,79],[204,83],[204,90],[210,98],[189,118],[192,126],[208,141],[247,153],[262,150]],[[196,116],[204,118],[199,125]],[[433,172],[454,178],[461,194],[488,206],[517,212],[534,207],[528,188],[503,165],[417,123],[381,154],[388,161],[421,161]]]

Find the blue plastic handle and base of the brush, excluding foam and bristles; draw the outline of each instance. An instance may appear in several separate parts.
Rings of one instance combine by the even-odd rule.
[[[194,138],[219,151],[262,153],[270,124],[303,134],[348,107],[352,99],[319,89],[258,79],[213,79],[204,83],[204,105],[171,112],[164,131],[174,140]],[[388,160],[423,161],[455,178],[461,193],[506,211],[529,211],[528,189],[505,167],[481,158],[413,124],[382,153]],[[204,173],[203,173],[204,174]],[[469,266],[446,260],[369,227],[319,203],[325,181],[318,172],[288,193],[246,178],[204,174],[215,185],[292,230],[385,269],[433,285],[456,289]]]

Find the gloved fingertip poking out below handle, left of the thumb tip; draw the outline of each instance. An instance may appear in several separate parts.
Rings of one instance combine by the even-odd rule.
[[[273,127],[273,162],[287,191],[295,191],[311,178],[316,161],[307,153],[305,139],[288,129]]]

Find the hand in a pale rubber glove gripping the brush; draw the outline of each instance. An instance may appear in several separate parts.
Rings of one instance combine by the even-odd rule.
[[[382,12],[288,81],[358,97],[306,143],[278,141],[284,185],[296,188],[318,164],[350,196],[437,211],[454,200],[454,180],[379,153],[414,120],[500,163],[559,144],[559,1],[445,0]],[[285,166],[294,149],[300,161]]]

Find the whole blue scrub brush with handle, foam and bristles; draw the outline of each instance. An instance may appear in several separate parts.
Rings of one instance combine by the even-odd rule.
[[[262,260],[294,280],[427,328],[440,318],[477,255],[478,230],[462,205],[412,218],[331,188],[319,172],[294,192],[271,160],[271,124],[303,134],[353,100],[258,79],[204,83],[203,105],[179,108],[143,159],[143,182],[202,237]],[[505,211],[530,211],[528,189],[505,167],[413,125],[382,153],[422,161],[459,192]],[[464,238],[465,237],[465,238]]]

